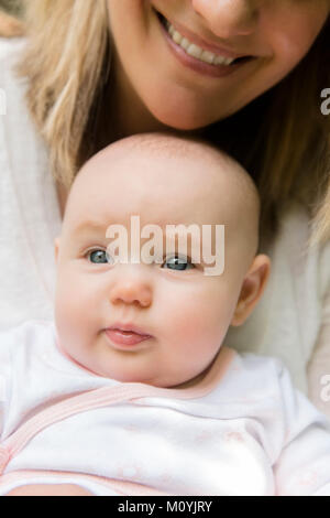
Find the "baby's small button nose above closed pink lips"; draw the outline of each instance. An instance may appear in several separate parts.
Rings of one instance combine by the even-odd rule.
[[[138,304],[148,307],[152,303],[151,283],[138,271],[127,273],[122,271],[111,288],[110,301],[112,304]]]

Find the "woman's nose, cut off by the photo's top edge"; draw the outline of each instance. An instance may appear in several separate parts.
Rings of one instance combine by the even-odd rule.
[[[260,0],[191,0],[213,34],[221,39],[249,35],[255,31]]]

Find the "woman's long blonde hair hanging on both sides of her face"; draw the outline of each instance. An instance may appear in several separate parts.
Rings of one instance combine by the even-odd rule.
[[[107,0],[25,2],[30,37],[20,73],[29,79],[28,104],[50,147],[54,176],[69,187],[84,162],[109,143],[109,112],[101,109],[111,79]],[[205,129],[206,140],[254,179],[265,236],[274,237],[280,207],[296,197],[310,209],[310,244],[330,237],[330,118],[320,112],[320,93],[330,86],[329,50],[327,23],[279,85]]]

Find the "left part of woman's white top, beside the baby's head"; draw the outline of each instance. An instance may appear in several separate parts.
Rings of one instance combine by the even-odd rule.
[[[11,64],[23,42],[0,40],[0,328],[53,316],[54,238],[61,229],[56,191],[43,142]]]

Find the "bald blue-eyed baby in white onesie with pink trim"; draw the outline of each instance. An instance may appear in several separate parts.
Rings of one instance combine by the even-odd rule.
[[[270,276],[258,218],[249,174],[196,139],[82,168],[55,323],[0,335],[1,495],[330,495],[326,418],[279,360],[221,346]]]

